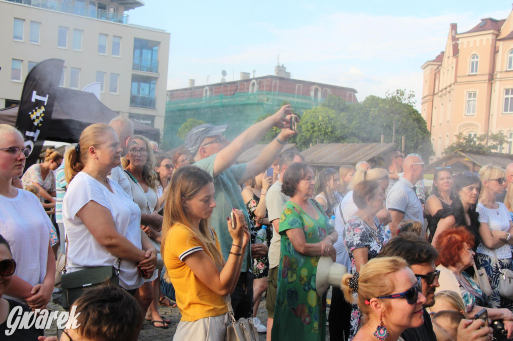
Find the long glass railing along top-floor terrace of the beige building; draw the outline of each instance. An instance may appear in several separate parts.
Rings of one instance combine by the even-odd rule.
[[[67,4],[64,1],[58,0],[6,0],[11,3],[16,4],[24,4],[33,7],[39,7],[44,9],[49,9],[52,11],[58,11],[63,13],[76,14],[81,16],[86,16],[89,18],[96,18],[101,20],[106,20],[108,22],[113,23],[121,23],[128,24],[129,16],[127,14],[120,14],[114,12],[108,12],[97,9],[90,9],[84,6],[73,6],[71,4]]]

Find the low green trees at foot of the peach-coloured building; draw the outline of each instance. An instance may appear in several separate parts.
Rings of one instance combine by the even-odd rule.
[[[444,155],[461,151],[468,153],[486,154],[499,151],[499,147],[506,143],[506,137],[502,133],[490,134],[488,139],[485,134],[473,138],[458,134],[456,141],[444,150]]]

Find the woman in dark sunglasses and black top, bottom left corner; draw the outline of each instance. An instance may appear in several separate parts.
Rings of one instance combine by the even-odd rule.
[[[24,312],[30,311],[27,306],[2,297],[12,283],[14,270],[16,270],[16,262],[12,259],[11,248],[5,238],[0,235],[0,335],[2,335],[2,339],[5,337],[14,340],[37,340],[38,336],[43,335],[43,330],[36,329],[35,325],[29,329],[15,328],[12,335],[5,336],[6,331],[11,330],[7,327],[7,318],[10,312],[16,307],[21,307]]]

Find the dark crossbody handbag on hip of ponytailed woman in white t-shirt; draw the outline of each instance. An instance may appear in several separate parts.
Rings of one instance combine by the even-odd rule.
[[[66,237],[66,243],[68,238]],[[119,273],[121,259],[117,262],[117,269],[112,265],[96,266],[85,268],[78,271],[67,273],[68,265],[68,247],[66,247],[66,257],[64,260],[64,270],[61,276],[62,286],[62,306],[68,310],[73,303],[80,297],[84,290],[101,284],[110,284],[119,286]]]

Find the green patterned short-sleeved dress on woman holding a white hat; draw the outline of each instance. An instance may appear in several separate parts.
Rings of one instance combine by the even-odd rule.
[[[278,269],[278,293],[272,326],[273,340],[326,339],[326,294],[315,291],[315,273],[320,256],[308,256],[294,250],[286,231],[301,228],[307,243],[319,243],[331,233],[328,218],[316,201],[315,221],[297,204],[287,201],[280,216],[281,252]]]

